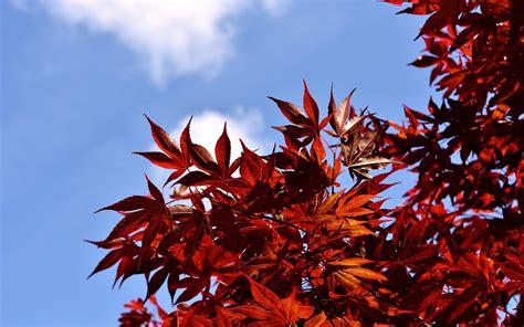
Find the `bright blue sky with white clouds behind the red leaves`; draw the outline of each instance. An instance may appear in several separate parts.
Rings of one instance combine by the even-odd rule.
[[[332,83],[337,99],[357,87],[358,107],[397,122],[431,92],[407,65],[421,18],[374,0],[93,3],[0,4],[2,326],[114,326],[145,295],[140,277],[113,291],[113,271],[87,281],[104,253],[82,241],[117,220],[96,209],[158,175],[130,154],[151,147],[143,113],[170,130],[195,115],[202,143],[226,118],[265,146],[283,123],[265,96],[301,103],[302,78],[321,106]]]

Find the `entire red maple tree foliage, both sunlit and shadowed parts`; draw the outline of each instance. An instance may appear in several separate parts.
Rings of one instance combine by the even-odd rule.
[[[172,194],[147,180],[102,209],[123,218],[93,242],[109,250],[93,274],[146,277],[123,326],[523,325],[524,4],[385,2],[430,14],[412,64],[442,93],[402,126],[357,113],[353,93],[321,115],[305,84],[303,108],[271,98],[290,122],[271,154],[231,158],[224,126],[213,156],[190,122],[177,143],[148,118],[160,151],[138,155],[171,171]],[[407,168],[417,184],[382,209],[384,180]]]

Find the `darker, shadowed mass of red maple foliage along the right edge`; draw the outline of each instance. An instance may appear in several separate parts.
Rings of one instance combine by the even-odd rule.
[[[382,149],[418,173],[380,249],[391,299],[439,326],[523,326],[524,1],[387,2],[430,14],[412,65],[442,93]]]

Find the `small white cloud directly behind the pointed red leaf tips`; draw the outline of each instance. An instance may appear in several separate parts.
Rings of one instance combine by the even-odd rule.
[[[184,117],[178,126],[169,133],[171,137],[178,140],[188,122],[189,116]],[[239,139],[242,139],[252,150],[260,149],[258,152],[261,154],[266,154],[268,149],[272,147],[271,140],[262,135],[264,122],[261,113],[256,109],[241,107],[235,108],[232,114],[221,114],[208,109],[193,115],[190,127],[191,140],[206,147],[214,156],[214,145],[222,134],[226,122],[231,140],[231,161],[242,152]],[[149,150],[157,150],[156,145],[151,145]],[[149,176],[156,184],[161,186],[167,180],[169,172],[169,170],[151,166]]]

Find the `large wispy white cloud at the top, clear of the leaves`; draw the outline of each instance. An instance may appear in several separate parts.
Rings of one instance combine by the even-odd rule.
[[[28,2],[11,0],[14,7]],[[253,8],[277,17],[290,0],[40,0],[71,25],[115,35],[136,52],[151,81],[164,86],[185,74],[216,75],[234,55],[235,19]]]

